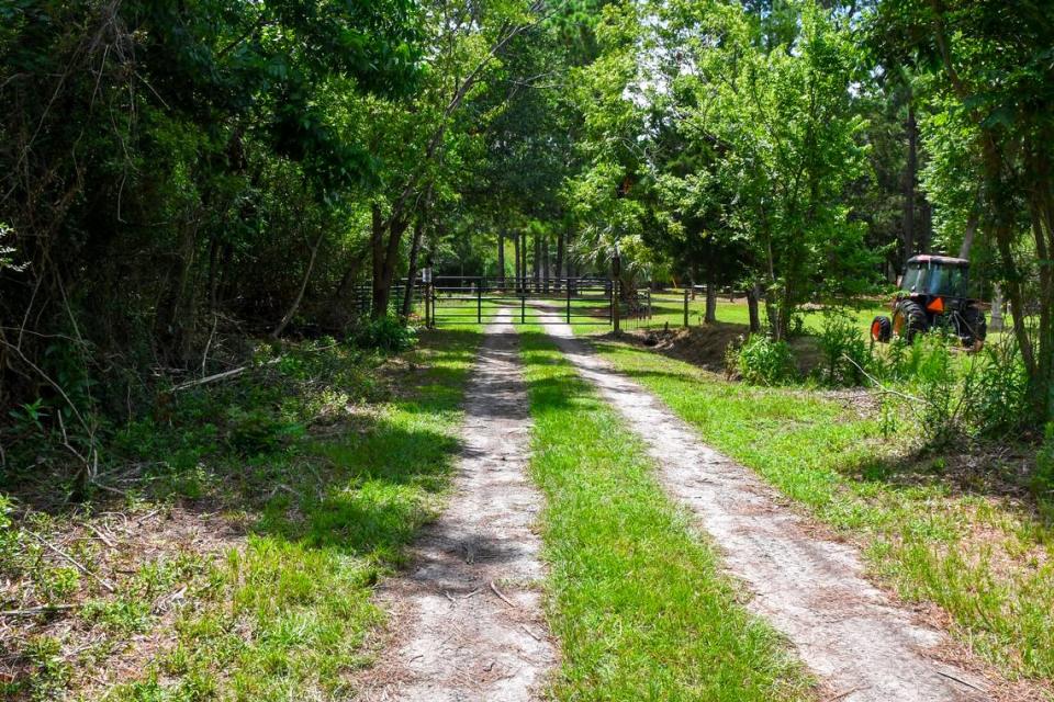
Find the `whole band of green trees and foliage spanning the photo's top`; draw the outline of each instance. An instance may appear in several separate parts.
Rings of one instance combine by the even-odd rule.
[[[920,251],[1054,406],[1046,3],[0,4],[0,400],[105,416],[218,333],[464,274],[732,286],[769,332]],[[660,281],[661,282],[661,281]],[[226,337],[225,337],[226,338]],[[225,342],[226,343],[226,342]],[[100,414],[101,412],[101,414]]]

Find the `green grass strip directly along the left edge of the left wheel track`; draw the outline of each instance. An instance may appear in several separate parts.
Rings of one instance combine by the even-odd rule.
[[[205,578],[205,607],[178,620],[176,647],[109,699],[348,694],[345,673],[365,661],[366,636],[382,621],[373,585],[441,505],[478,340],[429,337],[415,354],[427,371],[410,388],[365,427],[311,441],[302,460],[323,480],[268,500],[245,547]]]

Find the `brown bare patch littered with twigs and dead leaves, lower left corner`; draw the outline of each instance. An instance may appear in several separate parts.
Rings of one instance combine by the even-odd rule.
[[[78,590],[55,609],[43,591],[46,585],[30,574],[0,579],[0,682],[18,683],[33,676],[40,660],[25,652],[32,642],[46,638],[57,642],[51,665],[68,666],[69,689],[85,699],[102,697],[115,682],[139,678],[152,659],[169,649],[176,639],[172,623],[181,610],[195,605],[206,564],[244,543],[243,524],[179,506],[75,514],[58,526],[37,528],[27,537],[40,544],[34,571],[82,566],[93,575],[81,573]],[[147,626],[125,632],[87,614],[112,597],[108,586],[125,593],[144,566],[167,567],[181,559],[188,565],[167,587],[135,589],[134,597],[147,607]]]

